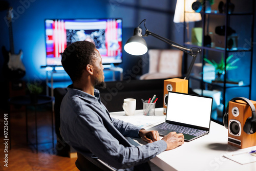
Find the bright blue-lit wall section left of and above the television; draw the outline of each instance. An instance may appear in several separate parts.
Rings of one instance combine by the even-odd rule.
[[[27,74],[25,81],[45,80],[46,65],[45,23],[46,18],[93,18],[106,17],[107,1],[41,1],[20,0],[8,1],[13,7],[13,38],[15,53],[23,50],[23,63]],[[97,8],[94,8],[97,7]],[[1,18],[7,11],[1,11]],[[1,19],[0,46],[9,47],[8,27],[5,19]],[[1,52],[2,54],[2,52]],[[2,58],[1,58],[2,59]],[[1,61],[2,63],[2,61]],[[3,73],[1,75],[3,77]]]

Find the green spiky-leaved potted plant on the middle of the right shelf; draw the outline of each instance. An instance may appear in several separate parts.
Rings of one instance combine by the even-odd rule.
[[[233,55],[230,55],[226,59],[226,71],[229,70],[234,70],[237,69],[238,66],[233,66],[234,63],[240,60],[240,58],[234,59],[232,62],[229,63],[229,60],[233,57]],[[222,79],[222,76],[225,74],[225,62],[224,62],[224,57],[223,54],[221,56],[221,61],[220,63],[217,63],[215,60],[209,60],[207,58],[204,58],[204,60],[209,63],[210,65],[215,67],[215,74],[216,74],[216,79],[220,80]]]

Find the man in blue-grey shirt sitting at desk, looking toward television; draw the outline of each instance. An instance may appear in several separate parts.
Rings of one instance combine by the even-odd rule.
[[[73,84],[61,103],[60,131],[83,156],[96,156],[116,169],[133,170],[184,143],[183,134],[169,133],[160,140],[156,131],[110,117],[95,89],[105,87],[105,82],[101,56],[91,42],[74,42],[63,52],[61,62]],[[124,136],[142,137],[148,144],[133,146]]]

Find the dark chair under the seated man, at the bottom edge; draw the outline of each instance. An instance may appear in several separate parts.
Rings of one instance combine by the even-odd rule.
[[[77,152],[76,167],[81,171],[115,171],[112,167],[105,164],[100,159],[84,157]]]

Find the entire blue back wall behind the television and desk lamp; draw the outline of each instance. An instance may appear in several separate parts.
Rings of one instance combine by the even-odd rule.
[[[248,1],[248,0],[247,0]],[[13,23],[13,37],[15,53],[20,49],[24,52],[23,62],[27,69],[24,80],[45,80],[45,69],[40,66],[46,64],[45,60],[45,18],[95,18],[95,17],[121,17],[123,18],[123,44],[133,34],[133,30],[141,20],[146,18],[148,30],[163,37],[182,44],[183,25],[174,24],[173,16],[176,1],[168,0],[87,0],[87,1],[41,1],[41,0],[9,0],[9,4],[16,11]],[[4,17],[7,10],[0,11],[0,46],[9,47],[8,27]],[[254,25],[255,25],[254,21]],[[143,28],[143,24],[141,25]],[[255,30],[255,29],[254,29]],[[144,30],[143,30],[144,32]],[[169,48],[164,42],[154,37],[145,38],[149,48]],[[254,34],[254,42],[255,34]],[[254,43],[255,44],[255,43]],[[256,84],[256,53],[253,53],[252,85]],[[2,50],[0,50],[2,55]],[[144,60],[141,60],[144,59]],[[144,62],[144,63],[143,63]],[[123,52],[124,78],[135,79],[137,74],[146,72],[147,56],[131,56]],[[0,58],[2,70],[3,57]],[[0,80],[3,81],[3,72],[0,72]],[[253,89],[254,88],[254,89]],[[251,99],[256,100],[256,89],[252,86]]]

